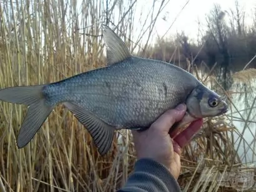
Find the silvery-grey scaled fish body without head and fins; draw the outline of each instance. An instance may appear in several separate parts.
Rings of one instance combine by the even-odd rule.
[[[179,86],[176,85],[179,82]],[[144,128],[163,112],[185,102],[200,82],[175,65],[130,57],[45,85],[47,105],[71,102],[119,128]]]

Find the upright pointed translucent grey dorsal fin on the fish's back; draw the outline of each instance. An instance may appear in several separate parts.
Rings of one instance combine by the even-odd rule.
[[[102,25],[102,30],[107,47],[107,65],[121,62],[132,56],[126,47],[126,44],[124,44],[124,41],[122,41],[112,29],[106,25]]]

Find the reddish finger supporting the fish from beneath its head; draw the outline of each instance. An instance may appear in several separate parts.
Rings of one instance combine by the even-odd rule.
[[[200,128],[203,125],[203,120],[200,118],[199,120],[195,120],[192,122],[189,127],[187,127],[184,131],[179,133],[174,140],[180,148],[183,148],[187,143],[190,142],[190,140],[194,137],[194,135],[199,132]]]

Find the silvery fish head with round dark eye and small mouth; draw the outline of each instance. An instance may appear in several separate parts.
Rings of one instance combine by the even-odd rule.
[[[216,117],[229,108],[220,95],[202,84],[197,85],[187,97],[187,112],[194,118]]]

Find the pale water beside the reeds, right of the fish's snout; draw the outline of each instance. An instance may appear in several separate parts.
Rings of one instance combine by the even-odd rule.
[[[237,80],[232,85],[231,90],[237,92],[246,91],[246,93],[232,95],[232,101],[234,102],[235,107],[237,107],[239,110],[240,114],[237,112],[237,110],[235,110],[235,107],[232,107],[232,110],[234,111],[232,112],[230,110],[227,115],[231,115],[233,117],[231,118],[232,123],[237,128],[237,133],[234,133],[235,149],[238,148],[238,154],[242,162],[245,164],[254,164],[256,160],[256,151],[254,146],[256,145],[256,123],[254,122],[256,116],[254,103],[256,97],[256,80],[252,79],[246,84]],[[251,110],[251,107],[254,108]],[[245,125],[245,122],[240,121],[241,118],[249,120],[250,122]],[[231,123],[230,120],[227,120],[227,123]]]

